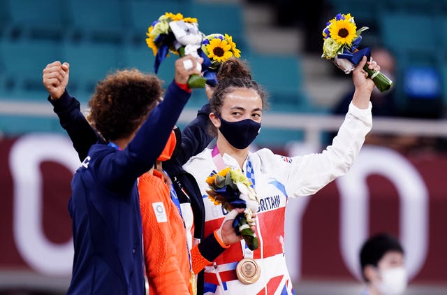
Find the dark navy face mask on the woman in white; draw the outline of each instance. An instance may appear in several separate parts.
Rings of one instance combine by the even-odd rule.
[[[261,123],[254,122],[251,119],[245,119],[237,122],[228,122],[221,116],[214,113],[221,120],[219,131],[225,136],[230,145],[240,150],[248,147],[254,141],[261,131]]]

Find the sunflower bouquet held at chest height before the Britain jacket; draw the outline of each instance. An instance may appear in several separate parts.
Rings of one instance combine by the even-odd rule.
[[[259,246],[256,233],[250,229],[255,224],[251,218],[258,210],[259,200],[251,182],[240,169],[225,168],[219,173],[207,177],[208,198],[216,206],[223,206],[227,211],[234,208],[244,208],[244,213],[237,215],[233,227],[237,234],[241,234],[250,250]]]

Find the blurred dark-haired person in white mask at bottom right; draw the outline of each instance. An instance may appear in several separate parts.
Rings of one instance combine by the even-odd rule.
[[[365,281],[362,295],[400,295],[407,285],[405,254],[399,240],[377,233],[363,243],[360,270]]]

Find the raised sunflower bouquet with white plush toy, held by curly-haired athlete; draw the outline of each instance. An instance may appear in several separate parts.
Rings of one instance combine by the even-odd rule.
[[[204,34],[199,31],[197,19],[183,17],[181,13],[165,13],[152,22],[146,33],[147,47],[155,56],[154,71],[158,73],[159,66],[170,53],[184,57],[198,57],[198,50]],[[200,68],[201,69],[201,68]],[[205,87],[205,78],[193,74],[189,77],[190,88]]]

